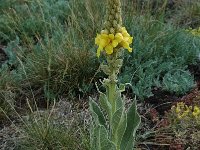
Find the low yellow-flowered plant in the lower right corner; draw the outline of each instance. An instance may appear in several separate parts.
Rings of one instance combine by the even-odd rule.
[[[200,107],[187,106],[179,102],[172,106],[169,119],[175,137],[185,145],[185,148],[199,149]]]

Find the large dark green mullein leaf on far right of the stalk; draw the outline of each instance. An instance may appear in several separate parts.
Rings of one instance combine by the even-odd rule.
[[[121,142],[121,150],[133,149],[135,133],[139,127],[140,122],[140,116],[136,109],[136,102],[134,101],[127,113],[127,127]]]

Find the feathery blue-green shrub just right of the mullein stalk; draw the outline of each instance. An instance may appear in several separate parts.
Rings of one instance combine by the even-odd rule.
[[[177,94],[190,90],[194,81],[187,72],[187,65],[198,60],[199,39],[153,17],[130,17],[126,23],[135,36],[135,51],[132,56],[126,56],[121,80],[132,83],[134,94],[141,99],[152,96],[151,89],[155,86]],[[188,81],[177,83],[179,89],[176,89],[173,82],[166,80],[168,77],[174,77],[174,81],[177,78]]]

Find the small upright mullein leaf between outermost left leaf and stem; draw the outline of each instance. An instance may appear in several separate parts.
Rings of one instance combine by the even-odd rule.
[[[106,111],[106,113],[108,114],[109,118],[111,118],[111,113],[112,113],[112,105],[110,104],[107,96],[100,92],[100,96],[99,96],[99,102],[101,107]]]

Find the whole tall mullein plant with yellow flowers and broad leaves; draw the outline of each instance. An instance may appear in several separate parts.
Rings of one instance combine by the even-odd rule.
[[[108,75],[101,83],[106,92],[99,91],[99,104],[90,98],[90,112],[93,117],[90,132],[92,150],[131,150],[134,149],[136,130],[140,116],[136,101],[125,109],[125,97],[121,93],[125,85],[118,83],[117,75],[123,62],[123,50],[132,52],[129,46],[131,37],[122,26],[120,0],[107,0],[106,20],[103,30],[97,34],[97,57],[104,55],[105,63],[101,70]]]

